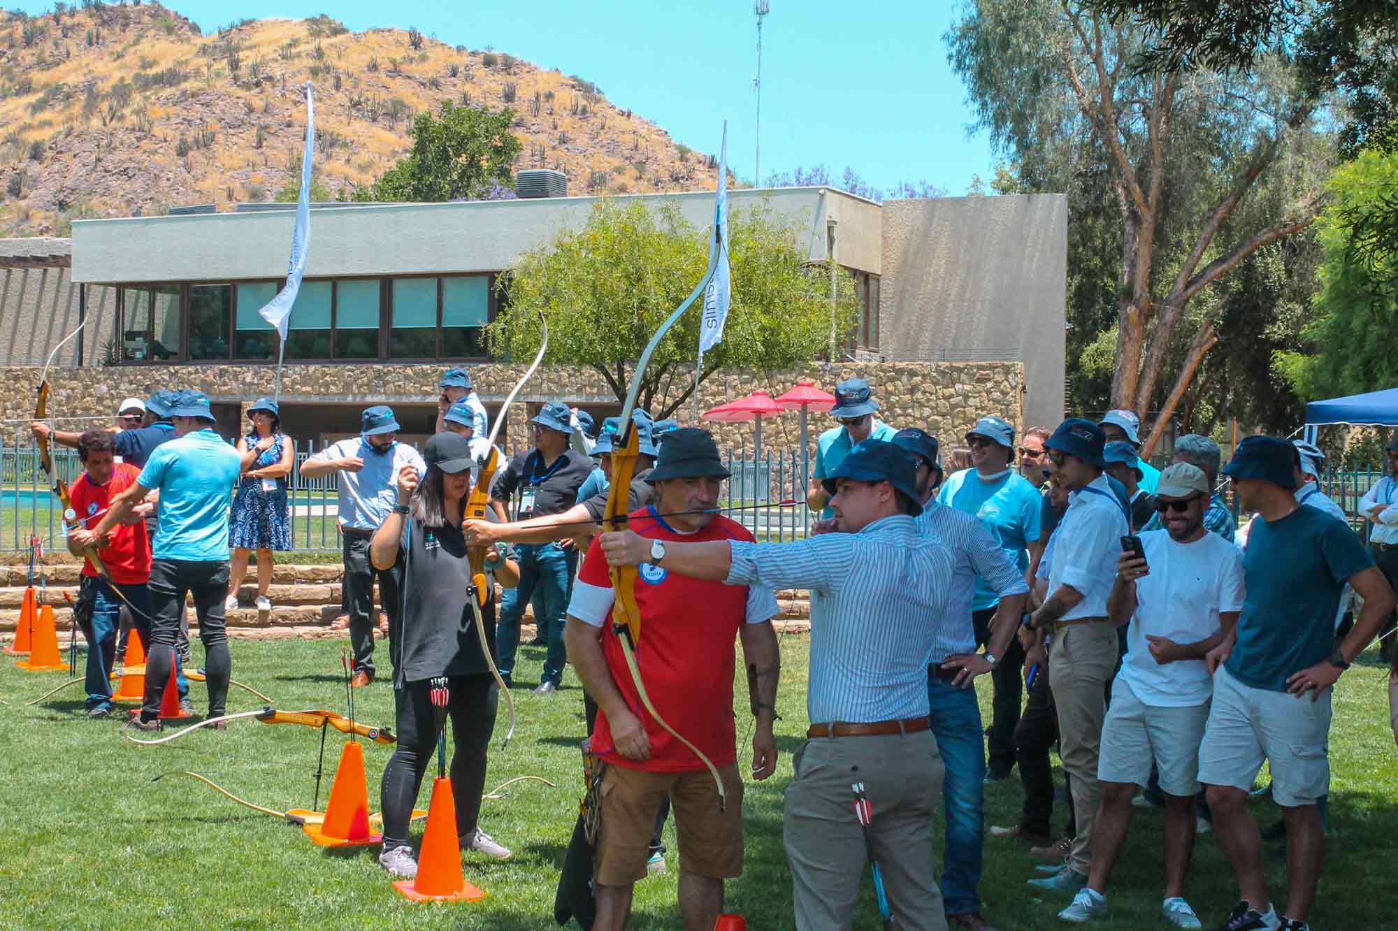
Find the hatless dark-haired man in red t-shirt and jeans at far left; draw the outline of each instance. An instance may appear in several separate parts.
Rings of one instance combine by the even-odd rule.
[[[75,526],[94,526],[110,507],[112,498],[130,488],[141,474],[141,470],[130,463],[117,463],[115,454],[112,433],[108,431],[88,431],[78,438],[78,459],[87,471],[69,489]],[[143,510],[150,507],[151,505],[140,505],[98,548],[98,556],[110,573],[112,582],[136,608],[131,621],[145,644],[151,642],[151,594],[145,587],[151,577],[151,538],[145,533]],[[81,555],[71,541],[69,551]],[[82,562],[78,605],[80,609],[91,608],[91,619],[84,630],[88,637],[85,682],[88,716],[106,717],[112,713],[112,658],[116,653],[116,632],[123,601],[88,561]],[[183,670],[178,672],[176,681],[183,698],[189,692]]]

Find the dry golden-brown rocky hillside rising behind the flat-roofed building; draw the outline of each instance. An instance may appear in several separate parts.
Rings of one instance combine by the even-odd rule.
[[[514,168],[569,193],[713,187],[709,158],[579,75],[415,29],[350,32],[329,17],[201,35],[155,3],[0,13],[0,235],[66,235],[81,217],[270,200],[299,169],[316,89],[316,179],[336,194],[408,150],[440,101],[514,109]]]

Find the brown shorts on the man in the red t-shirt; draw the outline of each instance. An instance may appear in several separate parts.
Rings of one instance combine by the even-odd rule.
[[[597,882],[629,886],[646,878],[650,835],[665,795],[675,816],[679,868],[709,879],[742,875],[742,779],[735,763],[720,766],[719,774],[728,795],[724,811],[707,769],[650,773],[608,763],[601,784]]]

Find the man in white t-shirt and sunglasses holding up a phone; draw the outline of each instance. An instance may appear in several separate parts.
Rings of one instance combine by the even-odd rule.
[[[1208,499],[1201,468],[1166,468],[1155,499],[1165,530],[1141,534],[1145,559],[1125,552],[1117,561],[1107,616],[1128,623],[1128,646],[1102,726],[1102,807],[1088,885],[1058,914],[1064,921],[1107,911],[1103,892],[1125,842],[1131,795],[1149,781],[1153,763],[1166,800],[1160,910],[1174,927],[1201,927],[1183,893],[1194,850],[1199,742],[1213,693],[1204,657],[1243,608],[1243,555],[1205,530]]]

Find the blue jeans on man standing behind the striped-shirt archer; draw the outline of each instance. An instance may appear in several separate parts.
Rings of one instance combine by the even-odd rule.
[[[946,914],[980,910],[981,842],[986,832],[986,746],[976,689],[959,689],[927,674],[927,705],[932,737],[946,774],[942,804],[946,812],[946,850],[942,854],[942,903]]]

